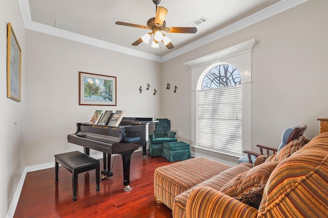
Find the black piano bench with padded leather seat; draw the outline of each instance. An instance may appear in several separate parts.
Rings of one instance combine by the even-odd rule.
[[[73,202],[76,201],[77,175],[79,173],[84,173],[90,171],[91,169],[96,169],[96,183],[97,183],[96,191],[98,192],[100,190],[99,160],[94,159],[79,151],[74,151],[74,152],[68,152],[63,154],[56,154],[55,162],[56,162],[55,163],[56,182],[58,182],[59,163],[61,166],[64,166],[69,172],[73,174]]]

